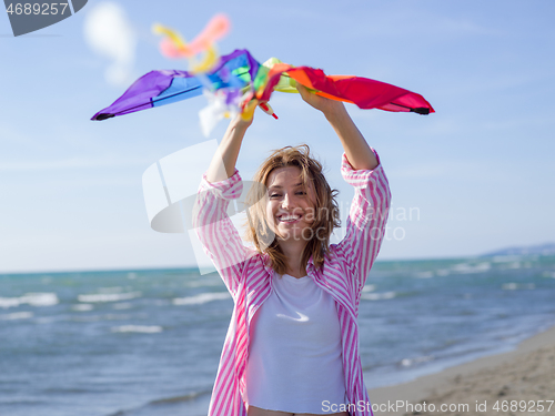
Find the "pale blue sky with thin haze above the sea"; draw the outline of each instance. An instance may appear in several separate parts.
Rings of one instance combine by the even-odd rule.
[[[107,82],[110,60],[84,39],[87,16],[100,3],[20,38],[0,14],[0,272],[194,265],[185,234],[150,229],[141,181],[159,159],[206,140],[198,120],[205,100],[90,121],[129,84]],[[553,2],[117,3],[137,35],[133,79],[186,69],[160,55],[154,21],[191,39],[224,12],[232,30],[219,42],[222,53],[248,48],[259,61],[278,57],[423,94],[435,114],[349,105],[392,187],[390,226],[398,230],[380,258],[467,256],[555,240]],[[256,114],[245,138],[243,179],[271,150],[306,142],[346,206],[353,191],[324,118],[293,94],[274,94],[272,105],[280,120]],[[412,219],[403,217],[411,209]]]

